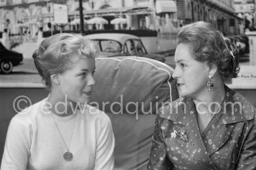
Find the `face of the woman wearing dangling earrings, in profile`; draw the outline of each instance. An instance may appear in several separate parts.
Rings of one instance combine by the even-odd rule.
[[[175,51],[176,68],[173,77],[177,79],[180,96],[197,98],[207,92],[209,66],[192,58],[189,44],[179,44]]]

